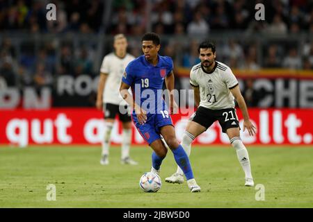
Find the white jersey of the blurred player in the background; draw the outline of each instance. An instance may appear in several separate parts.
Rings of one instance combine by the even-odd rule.
[[[124,58],[119,58],[115,53],[109,53],[104,56],[100,69],[103,74],[108,74],[103,92],[104,103],[127,105],[127,102],[120,95],[120,82],[125,68],[134,58],[129,53]]]

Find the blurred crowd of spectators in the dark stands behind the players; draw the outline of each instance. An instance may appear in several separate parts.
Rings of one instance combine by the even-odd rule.
[[[46,19],[48,3],[57,6],[56,21]],[[0,87],[1,78],[8,86],[42,87],[52,85],[60,75],[96,76],[100,65],[95,63],[96,58],[102,60],[112,50],[111,39],[105,42],[101,55],[97,53],[99,42],[77,47],[70,42],[45,41],[35,46],[35,42],[11,39],[10,33],[17,31],[29,35],[52,33],[59,38],[66,33],[102,32],[110,37],[116,33],[141,37],[150,25],[151,31],[162,37],[160,53],[171,56],[175,67],[186,68],[200,62],[199,40],[195,36],[259,33],[278,36],[278,40],[247,41],[231,36],[216,39],[217,60],[232,69],[313,69],[313,1],[152,0],[150,3],[151,12],[147,13],[144,0],[115,0],[113,10],[107,10],[107,3],[100,0],[0,0],[0,31],[3,33],[0,35]],[[255,3],[266,6],[266,21],[254,19]],[[105,17],[108,11],[111,14]],[[295,40],[301,33],[308,36],[304,42]],[[287,41],[286,36],[294,36],[294,41]],[[134,56],[141,54],[138,38],[129,40],[129,52]]]

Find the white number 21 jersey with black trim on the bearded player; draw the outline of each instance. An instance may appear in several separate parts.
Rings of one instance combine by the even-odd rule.
[[[238,80],[230,67],[215,61],[210,73],[202,69],[201,63],[193,66],[190,72],[190,83],[199,87],[200,105],[211,110],[234,108],[234,96],[230,89],[238,85]]]

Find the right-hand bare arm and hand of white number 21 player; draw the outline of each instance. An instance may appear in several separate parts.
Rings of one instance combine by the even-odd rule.
[[[248,108],[247,108],[245,99],[243,99],[243,96],[241,95],[239,85],[237,85],[233,89],[230,89],[230,92],[232,92],[232,95],[234,96],[234,99],[236,99],[236,101],[239,105],[239,108],[243,114],[243,120],[244,120],[243,131],[245,131],[247,128],[250,136],[255,135],[257,128],[255,128],[255,126],[253,126],[253,124],[250,121],[250,117],[248,114]]]

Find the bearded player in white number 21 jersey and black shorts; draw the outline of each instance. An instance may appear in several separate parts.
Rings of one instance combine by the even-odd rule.
[[[240,138],[240,128],[234,99],[243,114],[243,131],[248,130],[249,135],[256,132],[252,125],[246,102],[241,95],[238,81],[230,67],[218,62],[216,47],[211,42],[202,42],[198,47],[200,63],[191,69],[190,84],[194,89],[195,105],[198,110],[192,115],[191,121],[184,132],[182,146],[187,155],[191,153],[191,143],[201,133],[207,130],[214,121],[218,121],[223,133],[230,138],[230,144],[235,148],[238,160],[246,176],[245,185],[254,186],[248,151]],[[166,178],[166,182],[182,183],[184,177],[182,169]]]

